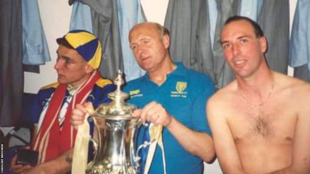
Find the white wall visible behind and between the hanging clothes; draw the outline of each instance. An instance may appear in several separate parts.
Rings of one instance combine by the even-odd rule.
[[[149,19],[156,20],[159,23],[163,23],[161,17],[164,16],[162,13],[163,10],[160,10],[162,7],[160,3],[166,4],[168,0],[161,1],[153,1],[153,0],[141,0],[143,2],[143,6],[151,6],[153,8],[150,9],[158,9],[158,13],[156,10],[151,13],[147,13],[147,17]],[[160,2],[160,3],[159,3]],[[290,22],[292,23],[292,19],[294,16],[294,9],[296,6],[297,0],[290,0]],[[38,89],[49,83],[55,82],[57,80],[56,72],[53,69],[56,59],[56,50],[57,43],[55,41],[56,38],[62,37],[69,30],[69,21],[71,16],[71,7],[68,5],[67,0],[38,0],[39,9],[41,14],[41,19],[43,23],[43,28],[45,31],[45,35],[47,37],[47,43],[50,50],[51,62],[48,62],[46,65],[40,66],[40,74],[35,73],[24,73],[24,91],[27,93],[37,93]],[[154,15],[154,16],[152,16]],[[158,15],[158,16],[157,16]],[[293,69],[289,68],[289,75],[293,74]],[[220,174],[222,173],[216,160],[213,164],[205,164],[205,174]]]

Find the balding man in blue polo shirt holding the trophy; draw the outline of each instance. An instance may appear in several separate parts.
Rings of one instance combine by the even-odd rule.
[[[140,173],[202,173],[203,160],[210,162],[215,155],[205,112],[206,101],[215,92],[212,80],[172,62],[169,32],[159,24],[135,25],[129,42],[137,63],[147,73],[124,87],[131,97],[127,102],[139,108],[134,115],[142,121],[164,127],[163,149],[156,147],[147,169],[148,151],[141,150]],[[82,124],[86,112],[81,105],[77,107],[73,125]],[[138,144],[149,141],[148,128],[140,129]]]

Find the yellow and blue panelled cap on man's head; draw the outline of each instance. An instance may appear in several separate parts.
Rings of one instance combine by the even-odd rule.
[[[60,44],[63,41],[69,43],[70,46],[84,58],[84,60],[94,69],[100,66],[101,62],[101,44],[98,38],[92,33],[85,30],[69,31],[64,37],[56,39]]]

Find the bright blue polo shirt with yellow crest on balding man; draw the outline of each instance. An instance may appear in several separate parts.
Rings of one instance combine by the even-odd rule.
[[[148,73],[129,81],[123,89],[130,95],[127,102],[143,108],[155,101],[186,127],[210,134],[206,102],[215,92],[213,82],[209,76],[187,69],[182,63],[175,64],[177,68],[167,75],[166,81],[160,86],[148,78]],[[145,127],[140,129],[138,144],[145,141],[146,131]],[[185,151],[166,128],[163,129],[163,144],[168,174],[202,173],[202,160]],[[157,146],[149,174],[161,173],[164,173],[162,151]]]

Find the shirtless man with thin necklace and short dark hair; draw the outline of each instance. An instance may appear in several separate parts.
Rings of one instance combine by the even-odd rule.
[[[225,174],[310,173],[310,85],[268,69],[258,24],[234,16],[221,33],[236,79],[207,104]]]

